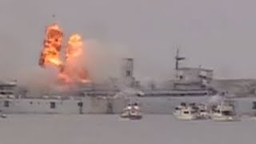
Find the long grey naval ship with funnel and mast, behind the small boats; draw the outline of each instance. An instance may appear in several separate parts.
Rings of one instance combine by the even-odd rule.
[[[175,76],[162,86],[141,86],[134,78],[134,59],[122,59],[122,78],[107,83],[90,82],[70,90],[29,95],[17,81],[0,83],[0,110],[5,114],[120,114],[138,103],[143,114],[171,114],[180,102],[208,102],[217,93],[210,85],[213,70],[180,67],[185,58],[175,56]],[[244,111],[252,99],[243,99]],[[253,102],[256,108],[256,102]]]

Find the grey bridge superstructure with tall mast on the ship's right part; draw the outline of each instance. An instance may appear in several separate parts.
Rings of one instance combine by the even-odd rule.
[[[214,70],[200,67],[182,67],[180,61],[185,57],[179,56],[177,50],[175,56],[174,78],[167,82],[167,86],[151,86],[150,89],[142,90],[142,96],[206,96],[215,94],[216,90],[210,86],[214,77]]]

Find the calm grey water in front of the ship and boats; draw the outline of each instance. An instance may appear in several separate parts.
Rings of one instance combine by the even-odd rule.
[[[9,115],[0,119],[0,144],[247,144],[255,143],[256,120],[178,121],[145,115]]]

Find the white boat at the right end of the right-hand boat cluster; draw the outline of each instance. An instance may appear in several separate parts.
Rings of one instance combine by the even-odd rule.
[[[238,116],[235,112],[234,102],[222,101],[218,105],[214,105],[210,111],[210,118],[214,121],[238,121]]]

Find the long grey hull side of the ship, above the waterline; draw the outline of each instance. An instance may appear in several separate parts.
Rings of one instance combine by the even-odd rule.
[[[200,97],[130,97],[130,98],[93,98],[81,99],[40,99],[40,98],[1,98],[0,110],[6,114],[119,114],[130,102],[137,102],[144,114],[172,114],[180,102],[209,102],[209,96]],[[238,114],[252,114],[256,98],[234,98]],[[8,101],[8,106],[6,106]],[[51,107],[50,102],[55,106]],[[82,106],[78,105],[82,102]]]

